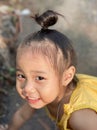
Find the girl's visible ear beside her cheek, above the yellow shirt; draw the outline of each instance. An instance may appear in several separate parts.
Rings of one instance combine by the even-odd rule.
[[[75,67],[74,66],[70,66],[63,73],[62,85],[67,86],[72,81],[74,75],[75,75]]]

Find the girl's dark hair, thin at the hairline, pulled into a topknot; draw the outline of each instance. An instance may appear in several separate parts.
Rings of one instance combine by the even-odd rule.
[[[51,60],[53,67],[59,71],[64,72],[65,68],[70,66],[76,67],[76,54],[72,47],[71,40],[57,30],[48,29],[50,26],[56,24],[58,15],[63,16],[52,10],[48,10],[42,15],[35,15],[35,21],[41,26],[41,30],[28,35],[20,47],[31,46],[33,53],[44,54]],[[73,82],[76,83],[74,77]]]

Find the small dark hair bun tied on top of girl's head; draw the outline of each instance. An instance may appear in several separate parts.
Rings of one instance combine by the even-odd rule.
[[[57,13],[52,10],[48,10],[40,16],[35,15],[34,18],[35,21],[42,27],[42,29],[47,29],[49,26],[54,25],[58,20]]]

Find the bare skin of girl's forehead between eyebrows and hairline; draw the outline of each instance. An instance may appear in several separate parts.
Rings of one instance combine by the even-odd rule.
[[[17,65],[34,65],[41,68],[52,68],[49,58],[39,52],[32,52],[30,47],[19,49],[16,58]],[[46,66],[46,67],[45,67]]]

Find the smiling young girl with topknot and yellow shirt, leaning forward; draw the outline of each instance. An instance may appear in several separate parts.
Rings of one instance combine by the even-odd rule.
[[[48,29],[58,15],[51,10],[36,15],[41,30],[18,47],[16,88],[27,103],[15,113],[8,130],[19,130],[43,107],[60,130],[97,130],[97,78],[76,74],[71,41]]]

